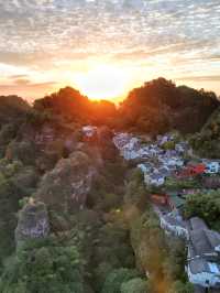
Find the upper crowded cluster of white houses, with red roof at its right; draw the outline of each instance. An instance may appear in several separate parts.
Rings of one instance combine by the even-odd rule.
[[[167,177],[187,178],[200,174],[220,173],[220,162],[210,160],[189,161],[193,155],[187,142],[175,142],[172,134],[158,135],[155,142],[143,143],[141,139],[130,133],[118,133],[113,138],[121,155],[138,162],[138,167],[144,174],[144,182],[150,186],[164,185]],[[164,149],[167,142],[173,142],[173,149]]]

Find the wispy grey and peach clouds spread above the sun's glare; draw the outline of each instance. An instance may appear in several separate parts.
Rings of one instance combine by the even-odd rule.
[[[172,77],[196,78],[206,68],[207,77],[217,82],[219,15],[219,0],[0,1],[0,63],[16,68],[14,75],[35,74],[30,84],[18,77],[15,86],[29,90],[38,75],[59,83],[69,68],[74,72],[74,66],[88,66],[96,58],[128,67],[154,64],[160,74]],[[200,73],[195,66],[199,62]]]

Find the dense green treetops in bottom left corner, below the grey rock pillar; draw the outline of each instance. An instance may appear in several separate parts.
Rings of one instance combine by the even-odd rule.
[[[84,264],[75,246],[55,240],[32,240],[7,264],[0,280],[2,293],[84,293]]]

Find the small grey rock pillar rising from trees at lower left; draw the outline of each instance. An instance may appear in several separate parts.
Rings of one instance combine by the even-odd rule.
[[[45,238],[50,234],[50,220],[45,204],[30,202],[19,214],[15,229],[16,243],[28,239]]]

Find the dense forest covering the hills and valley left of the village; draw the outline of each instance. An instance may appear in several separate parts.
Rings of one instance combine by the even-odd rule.
[[[0,97],[0,292],[193,292],[183,242],[167,241],[151,191],[112,135],[178,130],[215,156],[218,107],[213,93],[164,78],[118,108],[70,87],[33,107]],[[99,127],[94,140],[85,140],[86,124]]]

